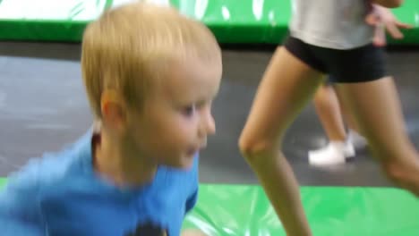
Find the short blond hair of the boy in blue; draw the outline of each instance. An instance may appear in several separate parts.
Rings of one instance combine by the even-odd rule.
[[[136,2],[102,14],[84,32],[81,70],[93,113],[112,89],[131,107],[141,108],[170,60],[186,56],[219,59],[219,47],[200,22],[174,8]],[[205,62],[206,62],[205,61]]]

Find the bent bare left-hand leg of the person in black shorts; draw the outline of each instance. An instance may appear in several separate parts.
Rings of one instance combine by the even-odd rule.
[[[311,235],[295,175],[278,150],[294,122],[322,82],[322,74],[279,47],[254,99],[239,147],[259,178],[287,235]]]

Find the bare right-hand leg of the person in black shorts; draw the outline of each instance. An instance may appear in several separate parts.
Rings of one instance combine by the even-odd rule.
[[[419,196],[419,155],[407,136],[393,79],[336,88],[389,179]]]

